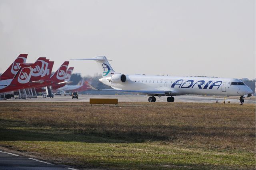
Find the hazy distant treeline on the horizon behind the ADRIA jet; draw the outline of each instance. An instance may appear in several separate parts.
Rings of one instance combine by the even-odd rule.
[[[196,77],[207,77],[207,76],[196,76]],[[102,75],[98,73],[95,74],[94,76],[87,75],[85,77],[81,77],[80,74],[72,74],[70,79],[72,83],[70,85],[77,85],[83,79],[84,81],[89,81],[90,84],[96,89],[111,89],[111,87],[101,83],[99,81],[100,78],[102,78]],[[249,80],[248,78],[243,78],[240,80],[243,81],[246,85],[248,85],[252,89],[252,91],[255,93],[255,79]]]

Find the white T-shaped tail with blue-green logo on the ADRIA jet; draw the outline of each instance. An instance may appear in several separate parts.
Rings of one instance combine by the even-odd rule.
[[[111,61],[111,60],[108,60],[107,57],[105,57],[105,56],[98,56],[98,57],[93,57],[90,59],[71,59],[71,60],[93,60],[93,61],[96,61],[99,64],[100,68],[102,68],[102,70],[103,70],[103,73],[102,73],[103,77],[106,77],[108,75],[115,73],[114,69],[112,69],[111,65],[108,63],[108,61]]]

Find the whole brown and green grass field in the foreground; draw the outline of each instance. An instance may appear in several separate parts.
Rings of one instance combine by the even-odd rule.
[[[255,169],[255,104],[6,102],[0,146],[77,168]]]

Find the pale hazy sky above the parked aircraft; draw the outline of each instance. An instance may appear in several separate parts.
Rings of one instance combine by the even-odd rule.
[[[255,45],[255,0],[0,0],[0,72],[20,53],[53,71],[105,55],[125,74],[255,79]]]

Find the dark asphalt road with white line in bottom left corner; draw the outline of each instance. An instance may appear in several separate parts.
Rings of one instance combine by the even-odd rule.
[[[0,151],[0,170],[75,170],[67,166]]]

